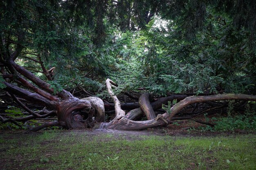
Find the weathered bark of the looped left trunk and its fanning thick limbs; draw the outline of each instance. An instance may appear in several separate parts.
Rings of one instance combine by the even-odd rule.
[[[6,86],[4,88],[4,90],[12,93],[13,99],[22,108],[24,108],[25,110],[27,110],[28,113],[31,114],[27,117],[18,119],[18,121],[25,121],[25,120],[28,120],[31,118],[36,118],[36,117],[45,117],[45,115],[40,115],[40,114],[37,114],[36,112],[33,112],[32,110],[30,110],[27,106],[25,106],[25,104],[20,102],[20,100],[16,97],[16,95],[26,99],[27,101],[30,101],[30,102],[33,102],[33,103],[36,103],[36,104],[39,104],[42,106],[47,106],[47,108],[51,108],[53,110],[57,110],[56,113],[58,116],[59,124],[67,129],[86,128],[87,127],[86,121],[83,119],[83,117],[81,115],[80,116],[82,117],[82,119],[81,120],[79,119],[79,114],[81,112],[79,112],[79,114],[77,114],[76,112],[73,112],[73,111],[77,111],[77,110],[81,111],[86,108],[91,108],[92,105],[95,107],[95,110],[97,111],[97,114],[95,114],[96,121],[97,122],[105,121],[104,104],[101,99],[99,99],[97,97],[92,97],[92,98],[90,98],[90,102],[88,100],[79,100],[79,99],[73,97],[73,95],[71,93],[69,93],[65,90],[62,90],[61,92],[56,93],[59,97],[63,98],[63,101],[61,101],[57,97],[54,97],[52,94],[50,94],[50,93],[53,93],[54,91],[50,87],[49,84],[47,84],[43,80],[36,77],[34,74],[27,71],[22,66],[19,66],[18,64],[16,64],[14,62],[14,60],[9,60],[7,67],[10,68],[11,72],[14,73],[15,75],[6,75],[5,73],[3,73],[5,78],[13,78],[15,81],[22,84],[22,86],[25,86],[25,87],[31,89],[32,91],[36,92],[36,93],[32,93],[32,92],[22,89],[18,86],[13,86],[12,84],[9,84],[8,82],[3,82],[4,85]],[[19,73],[45,91],[41,90],[40,88],[33,85],[31,82],[29,82],[26,79],[24,79],[23,77],[21,77],[19,75]],[[49,93],[47,93],[46,91],[48,91]],[[91,115],[93,115],[92,110],[94,110],[94,109],[90,110]],[[90,117],[90,119],[92,119],[92,117]],[[11,121],[11,119],[7,119],[6,121]],[[94,120],[91,120],[90,124],[91,123],[94,124]]]

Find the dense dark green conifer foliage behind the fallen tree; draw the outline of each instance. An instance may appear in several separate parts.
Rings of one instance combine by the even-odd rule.
[[[12,86],[45,86],[19,66],[52,95],[105,103],[108,78],[123,103],[146,92],[256,95],[255,11],[255,0],[1,1],[1,101],[15,101],[5,92],[17,92]]]

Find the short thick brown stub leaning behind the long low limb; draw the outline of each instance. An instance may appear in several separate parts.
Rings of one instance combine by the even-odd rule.
[[[152,95],[149,93],[144,93],[139,97],[139,107],[141,108],[142,112],[146,115],[147,119],[155,119],[155,112],[150,104],[150,98]]]

